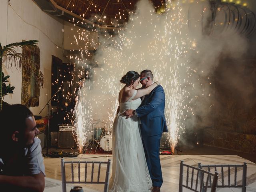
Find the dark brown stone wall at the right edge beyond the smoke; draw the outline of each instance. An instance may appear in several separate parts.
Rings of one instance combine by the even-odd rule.
[[[216,100],[204,145],[256,153],[256,59],[223,61],[213,76]]]

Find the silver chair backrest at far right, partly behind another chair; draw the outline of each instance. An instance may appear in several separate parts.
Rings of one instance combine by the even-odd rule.
[[[247,165],[244,162],[242,165],[202,165],[198,163],[198,168],[219,171],[221,176],[221,184],[217,182],[218,188],[242,188],[242,192],[246,192],[246,172]],[[237,180],[237,172],[242,170],[242,179]],[[225,178],[225,179],[224,179]],[[233,181],[231,181],[233,180]]]

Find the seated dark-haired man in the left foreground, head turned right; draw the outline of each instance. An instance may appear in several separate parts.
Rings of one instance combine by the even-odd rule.
[[[32,112],[21,104],[0,111],[0,188],[43,192],[44,162]]]

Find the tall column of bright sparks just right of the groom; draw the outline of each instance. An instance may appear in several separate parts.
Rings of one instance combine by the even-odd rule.
[[[165,36],[167,45],[165,46],[165,56],[169,60],[170,77],[166,83],[166,123],[168,126],[168,140],[170,142],[172,154],[178,144],[180,134],[184,132],[187,113],[192,110],[189,100],[188,67],[189,60],[186,54],[189,52],[189,38],[187,34],[187,20],[185,13],[180,6],[180,2],[173,4],[167,2],[166,20],[164,21]],[[191,99],[192,100],[192,99]]]

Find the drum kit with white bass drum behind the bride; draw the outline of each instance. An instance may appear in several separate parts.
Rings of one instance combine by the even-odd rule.
[[[104,127],[95,127],[93,128],[92,138],[89,140],[88,147],[91,151],[95,148],[104,150],[105,152],[112,151],[112,132],[108,130],[109,128]]]

